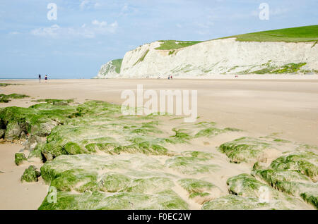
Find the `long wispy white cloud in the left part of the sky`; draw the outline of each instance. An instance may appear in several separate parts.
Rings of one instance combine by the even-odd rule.
[[[41,27],[31,30],[31,34],[40,37],[52,38],[94,38],[97,35],[114,34],[117,31],[118,23],[108,24],[106,21],[93,20],[90,25],[84,23],[81,27],[60,27],[59,25],[52,25],[50,27]]]

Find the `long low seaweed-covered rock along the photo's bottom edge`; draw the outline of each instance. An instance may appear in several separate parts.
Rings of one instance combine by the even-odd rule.
[[[39,209],[188,209],[188,205],[172,190],[159,192],[155,195],[135,192],[118,194],[57,192],[57,203],[49,203],[45,198]]]

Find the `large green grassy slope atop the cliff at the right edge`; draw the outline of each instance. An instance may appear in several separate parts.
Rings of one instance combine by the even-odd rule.
[[[253,32],[231,37],[237,37],[237,41],[240,42],[317,42],[318,25]]]

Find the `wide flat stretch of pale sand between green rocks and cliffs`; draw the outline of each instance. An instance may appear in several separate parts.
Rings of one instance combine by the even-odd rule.
[[[244,76],[246,77],[246,76]],[[270,76],[273,77],[273,76]],[[311,76],[310,76],[311,77]],[[6,81],[8,82],[8,81]],[[10,81],[23,85],[2,88],[4,94],[27,94],[32,99],[88,99],[122,104],[125,89],[187,89],[198,91],[198,116],[220,125],[237,127],[257,135],[318,144],[318,80],[37,80]],[[30,99],[14,99],[0,106],[28,107]]]

